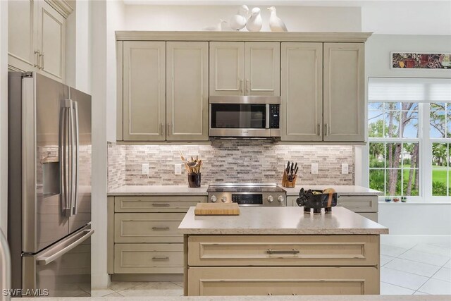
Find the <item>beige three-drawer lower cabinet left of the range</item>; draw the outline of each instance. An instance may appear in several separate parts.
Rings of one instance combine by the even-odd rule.
[[[178,226],[190,206],[206,201],[206,196],[109,197],[108,273],[183,274]]]

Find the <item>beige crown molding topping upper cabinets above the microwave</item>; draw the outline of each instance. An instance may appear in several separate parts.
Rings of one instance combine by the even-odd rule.
[[[372,32],[116,31],[117,41],[366,42]]]

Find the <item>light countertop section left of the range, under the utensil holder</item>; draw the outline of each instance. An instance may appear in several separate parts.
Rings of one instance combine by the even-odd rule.
[[[111,190],[108,195],[207,195],[207,188],[208,186],[189,188],[187,185],[130,185]]]

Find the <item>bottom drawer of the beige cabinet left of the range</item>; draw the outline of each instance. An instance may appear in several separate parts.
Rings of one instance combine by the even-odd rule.
[[[114,273],[182,274],[183,244],[116,244]]]

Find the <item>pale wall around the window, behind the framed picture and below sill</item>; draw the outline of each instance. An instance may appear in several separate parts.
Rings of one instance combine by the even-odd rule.
[[[449,52],[451,36],[443,35],[372,35],[365,47],[366,78],[451,78],[448,70],[390,68],[390,51]],[[366,80],[367,82],[367,80]],[[356,148],[356,157],[360,156]],[[362,147],[362,184],[368,185],[368,146]],[[359,168],[359,167],[358,167]],[[379,204],[379,222],[390,228],[382,241],[411,240],[436,242],[451,240],[451,204]],[[400,206],[397,206],[400,205]]]

